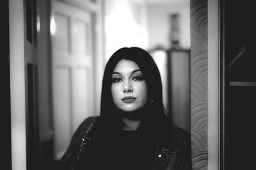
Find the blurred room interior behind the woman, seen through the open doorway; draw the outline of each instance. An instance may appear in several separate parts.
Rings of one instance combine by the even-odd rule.
[[[104,66],[121,47],[152,54],[166,114],[190,133],[189,0],[24,2],[28,169],[53,168],[79,124],[100,114]]]

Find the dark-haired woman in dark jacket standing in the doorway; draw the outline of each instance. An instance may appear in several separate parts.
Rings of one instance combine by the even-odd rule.
[[[191,169],[190,137],[164,114],[154,59],[124,47],[109,59],[100,116],[81,123],[61,169]]]

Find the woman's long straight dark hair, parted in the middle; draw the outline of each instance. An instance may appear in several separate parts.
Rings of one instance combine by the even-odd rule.
[[[111,84],[113,70],[121,59],[134,61],[140,67],[148,86],[148,102],[150,102],[148,104],[150,108],[147,109],[148,113],[146,114],[146,124],[150,126],[153,124],[154,127],[155,125],[159,127],[159,125],[163,124],[163,120],[166,120],[163,107],[161,75],[152,56],[146,50],[139,47],[123,47],[116,50],[111,58],[109,58],[102,81],[100,117],[108,121],[108,125],[115,124],[116,118],[118,118],[116,106],[111,95]]]

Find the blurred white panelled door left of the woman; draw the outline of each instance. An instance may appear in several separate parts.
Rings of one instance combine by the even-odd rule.
[[[60,1],[52,1],[52,12],[54,148],[55,157],[59,159],[78,125],[95,114],[93,31],[90,12]]]

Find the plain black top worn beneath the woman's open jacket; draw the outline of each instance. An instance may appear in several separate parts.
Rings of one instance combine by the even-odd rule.
[[[92,137],[77,169],[148,170],[156,150],[156,143],[149,139],[149,135],[139,130],[118,130],[108,137]]]

